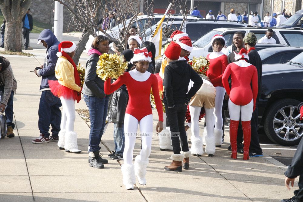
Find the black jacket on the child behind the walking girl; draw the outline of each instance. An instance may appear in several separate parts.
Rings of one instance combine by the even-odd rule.
[[[108,121],[117,123],[116,127],[122,127],[124,123],[124,115],[128,103],[128,91],[125,85],[122,85],[114,92],[112,102],[109,108]]]

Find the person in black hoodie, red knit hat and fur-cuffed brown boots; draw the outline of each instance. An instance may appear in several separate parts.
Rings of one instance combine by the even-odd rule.
[[[187,37],[188,38],[188,37]],[[190,39],[189,39],[190,41]],[[187,55],[185,45],[182,45],[184,55],[181,55],[181,47],[179,44],[171,43],[165,50],[168,65],[164,71],[164,98],[165,111],[169,127],[171,130],[171,141],[174,154],[171,155],[172,163],[165,166],[166,171],[182,172],[183,168],[189,168],[189,157],[191,152],[188,148],[187,136],[184,127],[185,113],[187,111],[188,102],[191,97],[201,87],[203,81],[201,77],[191,68],[186,60],[178,60],[179,57]],[[186,55],[185,55],[186,54]],[[189,80],[194,82],[193,87],[188,91]],[[180,140],[182,151],[180,148]]]

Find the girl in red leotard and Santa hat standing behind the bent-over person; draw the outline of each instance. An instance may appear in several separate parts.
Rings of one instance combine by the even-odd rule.
[[[228,61],[227,56],[222,52],[222,48],[225,45],[225,38],[221,35],[215,35],[211,39],[211,44],[214,48],[214,51],[206,56],[206,58],[209,60],[209,69],[207,71],[207,76],[210,79],[211,84],[213,84],[216,88],[215,110],[213,116],[213,124],[215,124],[214,137],[215,145],[221,146],[223,136],[222,106],[225,95],[225,89],[222,84],[222,75],[225,71],[226,66],[228,65]]]

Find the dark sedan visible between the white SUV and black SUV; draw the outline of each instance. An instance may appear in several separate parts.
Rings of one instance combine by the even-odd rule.
[[[262,59],[262,64],[275,64],[286,63],[288,60],[299,55],[303,51],[303,48],[293,47],[278,47],[278,48],[265,48],[259,50],[258,53]]]

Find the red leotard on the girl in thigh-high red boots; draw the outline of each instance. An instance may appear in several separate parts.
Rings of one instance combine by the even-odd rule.
[[[228,77],[230,75],[231,89],[228,84]],[[254,65],[244,60],[230,63],[225,69],[222,82],[226,93],[234,104],[244,106],[251,102],[251,99],[254,99],[254,104],[256,103],[258,95],[258,72]]]

